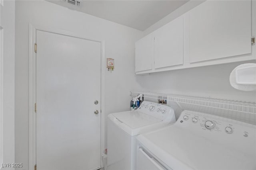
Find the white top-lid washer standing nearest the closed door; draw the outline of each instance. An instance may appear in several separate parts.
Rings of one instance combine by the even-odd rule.
[[[108,170],[135,170],[137,135],[175,121],[171,107],[146,101],[137,110],[108,115]]]

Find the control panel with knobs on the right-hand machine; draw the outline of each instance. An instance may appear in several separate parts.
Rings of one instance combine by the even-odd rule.
[[[240,152],[251,153],[255,146],[256,125],[220,117],[217,115],[184,110],[174,127]],[[255,153],[255,152],[254,152]]]

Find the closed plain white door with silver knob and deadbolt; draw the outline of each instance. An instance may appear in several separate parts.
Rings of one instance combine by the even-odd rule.
[[[101,43],[45,31],[36,43],[37,170],[99,169]]]

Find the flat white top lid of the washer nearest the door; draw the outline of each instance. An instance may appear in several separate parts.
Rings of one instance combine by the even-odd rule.
[[[140,111],[114,113],[113,116],[133,129],[162,121],[161,119],[147,115],[146,113],[142,113]]]

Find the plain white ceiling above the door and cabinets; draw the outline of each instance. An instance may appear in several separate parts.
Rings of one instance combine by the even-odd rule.
[[[63,0],[54,4],[144,31],[188,0],[82,0],[75,7]]]

